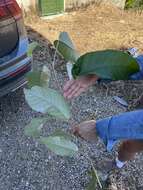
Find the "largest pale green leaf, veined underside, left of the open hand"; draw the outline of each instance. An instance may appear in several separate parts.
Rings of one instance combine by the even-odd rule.
[[[56,90],[34,86],[31,89],[24,89],[25,98],[29,106],[41,113],[49,113],[60,119],[70,118],[69,105],[64,97]]]

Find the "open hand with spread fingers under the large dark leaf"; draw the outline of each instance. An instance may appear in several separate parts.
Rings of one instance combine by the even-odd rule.
[[[82,92],[85,92],[90,86],[92,86],[98,77],[95,75],[88,75],[80,77],[76,80],[68,81],[64,86],[64,97],[67,99],[75,98]]]

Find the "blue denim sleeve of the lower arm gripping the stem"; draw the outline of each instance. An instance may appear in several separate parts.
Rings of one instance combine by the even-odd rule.
[[[98,120],[96,131],[109,151],[118,140],[143,139],[143,110]]]

